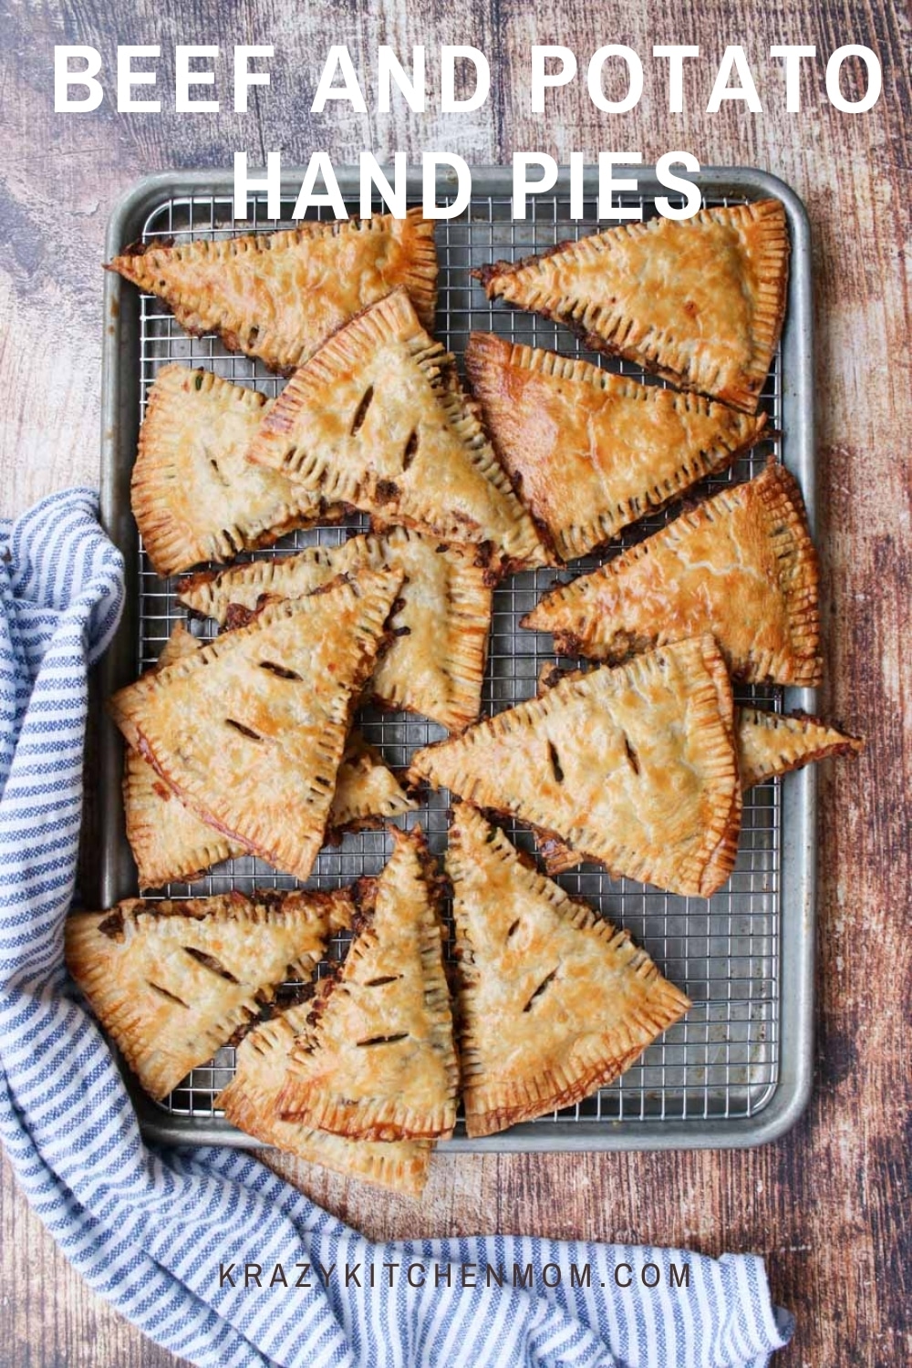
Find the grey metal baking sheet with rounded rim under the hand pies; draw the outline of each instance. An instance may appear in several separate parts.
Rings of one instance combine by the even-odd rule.
[[[636,168],[645,216],[655,212],[660,193],[648,170]],[[804,488],[814,525],[814,412],[811,402],[811,252],[807,215],[782,182],[755,170],[704,168],[693,178],[704,202],[734,204],[766,196],[786,209],[792,237],[789,306],[782,343],[763,393],[771,427],[782,432],[781,458]],[[283,190],[283,213],[290,215],[301,175],[290,172]],[[357,212],[357,170],[339,172],[339,183]],[[409,179],[414,201],[421,193],[420,172]],[[581,350],[566,330],[535,315],[489,304],[469,276],[469,267],[499,257],[525,256],[555,242],[591,233],[596,218],[598,175],[585,172],[585,216],[570,218],[569,178],[561,172],[554,190],[536,196],[524,222],[513,220],[510,174],[502,168],[474,168],[469,209],[440,220],[440,298],[436,332],[461,363],[469,331],[489,330],[536,346],[589,360],[643,378],[626,361],[607,360]],[[439,198],[453,192],[446,176]],[[127,242],[197,237],[227,237],[252,227],[273,228],[289,220],[269,220],[265,205],[250,201],[250,220],[232,223],[232,179],[228,172],[179,172],[139,182],[118,205],[108,227],[107,256]],[[379,205],[377,205],[379,208]],[[328,211],[321,211],[328,216]],[[146,394],[167,361],[212,368],[230,379],[275,394],[282,380],[258,364],[224,350],[215,338],[189,338],[157,300],[141,295],[119,276],[105,278],[103,517],[127,565],[129,606],[118,639],[100,669],[100,698],[152,665],[180,616],[172,583],[152,572],[130,513],[130,472]],[[660,383],[647,378],[649,383]],[[734,469],[707,480],[710,492],[729,480],[742,480],[766,462],[771,443],[763,443]],[[674,509],[670,510],[674,514]],[[669,514],[645,520],[648,528]],[[354,523],[353,525],[361,525]],[[630,529],[636,538],[644,524]],[[622,538],[622,543],[630,536]],[[286,538],[278,549],[336,543],[345,529],[320,528]],[[574,562],[562,577],[599,564],[603,557]],[[551,642],[518,629],[520,616],[552,583],[554,572],[517,575],[495,592],[491,658],[484,684],[484,709],[499,711],[535,692],[539,669],[554,659]],[[562,662],[570,663],[570,662]],[[760,699],[773,707],[814,710],[808,689],[742,689],[742,700]],[[100,799],[103,837],[97,906],[109,907],[137,892],[137,876],[123,833],[120,803],[120,739],[113,725],[98,720]],[[410,752],[443,735],[440,728],[407,714],[368,711],[362,729],[390,763],[403,766]],[[447,795],[431,795],[418,814],[431,847],[446,848]],[[507,828],[517,844],[531,848],[528,833]],[[753,789],[745,802],[737,867],[712,899],[675,897],[632,882],[613,881],[595,865],[561,877],[573,895],[593,903],[613,922],[639,940],[663,973],[693,999],[686,1019],[673,1026],[610,1088],[578,1105],[487,1140],[470,1141],[462,1127],[442,1148],[448,1150],[561,1150],[561,1149],[670,1149],[753,1145],[773,1140],[800,1115],[811,1081],[814,902],[815,902],[815,774],[814,767]],[[347,836],[340,848],[321,852],[312,885],[328,888],[362,873],[376,873],[386,858],[383,833]],[[171,885],[163,892],[185,897],[228,888],[294,886],[268,865],[238,859],[219,866],[193,885]],[[338,952],[340,945],[335,945]],[[226,1048],[159,1105],[134,1085],[145,1133],[159,1141],[252,1145],[217,1115],[213,1099],[227,1083],[234,1051]]]

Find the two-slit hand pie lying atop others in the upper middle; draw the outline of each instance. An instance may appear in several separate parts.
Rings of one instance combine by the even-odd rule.
[[[453,357],[405,290],[365,309],[295,371],[247,456],[313,498],[444,542],[491,542],[510,564],[547,562]]]

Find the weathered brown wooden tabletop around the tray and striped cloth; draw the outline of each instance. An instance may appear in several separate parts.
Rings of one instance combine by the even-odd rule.
[[[104,226],[116,196],[149,171],[223,166],[235,148],[252,161],[280,148],[287,164],[316,148],[340,161],[423,148],[469,161],[507,161],[514,149],[559,160],[582,152],[670,148],[701,161],[764,167],[794,186],[814,226],[818,323],[819,543],[824,568],[829,683],[822,711],[868,737],[856,765],[822,776],[818,1071],[811,1107],[778,1144],[748,1152],[448,1157],[435,1164],[421,1205],[332,1176],[275,1167],[369,1235],[541,1231],[591,1239],[688,1245],[704,1253],[756,1250],[775,1298],[797,1315],[785,1365],[898,1365],[912,1361],[908,1228],[911,1161],[907,1022],[912,856],[909,713],[912,584],[907,313],[909,88],[908,15],[883,0],[766,5],[749,0],[665,7],[561,0],[543,18],[521,0],[375,5],[294,0],[3,0],[0,78],[0,509],[98,477]],[[611,22],[614,19],[615,22]],[[532,42],[580,56],[626,42],[647,57],[636,112],[600,114],[584,81],[555,92],[547,116],[528,96]],[[878,49],[883,96],[864,116],[838,114],[822,64],[804,81],[805,112],[785,112],[775,42],[844,42]],[[116,42],[273,42],[272,88],[246,116],[55,115],[55,42],[97,47],[107,68]],[[494,89],[477,114],[440,119],[330,107],[306,111],[331,42],[356,60],[377,42],[472,42],[491,59]],[[665,63],[654,42],[699,44],[685,70],[685,112],[667,112]],[[726,42],[755,63],[763,114],[706,109]],[[224,68],[227,70],[227,67]],[[163,96],[174,86],[164,82]],[[205,93],[205,92],[201,92]],[[230,104],[230,88],[223,97]],[[372,104],[369,97],[368,104]],[[904,254],[905,253],[905,254]],[[174,1363],[94,1297],[19,1196],[0,1182],[0,1363],[51,1368],[152,1368]]]

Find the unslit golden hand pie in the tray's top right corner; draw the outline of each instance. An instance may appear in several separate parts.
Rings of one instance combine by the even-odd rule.
[[[782,331],[789,234],[778,200],[593,233],[473,271],[502,298],[576,328],[674,384],[755,413]]]

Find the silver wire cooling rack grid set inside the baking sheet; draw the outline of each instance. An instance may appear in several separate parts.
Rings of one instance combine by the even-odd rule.
[[[644,216],[654,212],[651,200],[625,194],[623,204],[641,204]],[[741,198],[706,197],[704,202],[742,202]],[[232,223],[232,204],[227,194],[183,194],[165,198],[148,213],[144,241],[174,238],[187,242],[201,237],[232,237],[239,233],[290,226],[293,201],[283,201],[289,218],[267,218],[265,205],[250,200],[247,223]],[[377,205],[377,208],[380,208]],[[354,212],[357,205],[351,205]],[[330,218],[324,211],[320,216]],[[576,337],[537,315],[507,309],[488,302],[483,289],[469,276],[469,268],[498,259],[511,259],[541,252],[555,242],[576,238],[599,226],[595,202],[584,204],[584,218],[573,222],[569,200],[554,196],[532,200],[529,218],[514,222],[509,194],[476,194],[468,213],[438,226],[440,257],[439,306],[436,334],[462,363],[469,332],[492,331],[550,347],[572,356],[585,356],[607,369],[622,371],[647,383],[662,383],[645,376],[637,367],[585,352]],[[604,224],[602,224],[604,226]],[[224,350],[212,337],[190,338],[172,315],[155,297],[144,295],[139,304],[139,406],[145,409],[148,391],[157,371],[170,361],[202,365],[241,384],[273,395],[282,380],[258,364]],[[762,406],[773,430],[782,427],[781,353],[777,353]],[[767,461],[773,446],[764,442],[721,476],[703,482],[699,494],[749,479]],[[654,514],[626,529],[619,544],[628,546],[655,531],[670,513]],[[278,547],[256,555],[280,555],[305,546],[335,546],[353,531],[366,527],[366,520],[350,520],[345,527],[299,531]],[[252,557],[242,557],[250,560]],[[604,555],[577,561],[561,579],[572,579],[593,568]],[[142,669],[153,665],[172,627],[183,617],[174,595],[174,581],[160,580],[139,549],[141,605],[138,616],[138,662]],[[535,694],[539,672],[554,662],[551,639],[522,631],[520,617],[528,611],[554,583],[554,570],[514,575],[494,594],[494,624],[483,707],[498,713]],[[193,624],[194,631],[205,631]],[[558,658],[561,665],[576,661]],[[747,688],[740,702],[759,702],[779,709],[782,691]],[[442,728],[405,713],[365,710],[358,720],[361,731],[394,767],[405,767],[412,752],[446,735]],[[781,892],[782,892],[782,802],[779,781],[763,784],[745,795],[744,822],[736,870],[726,886],[711,899],[678,897],[630,880],[611,880],[595,865],[581,865],[558,880],[573,896],[587,899],[611,922],[626,928],[655,959],[660,970],[693,1000],[684,1022],[673,1026],[628,1073],[593,1097],[573,1108],[543,1116],[524,1127],[525,1141],[535,1148],[561,1148],[558,1135],[566,1124],[576,1123],[580,1137],[585,1131],[598,1148],[598,1135],[618,1123],[647,1123],[658,1130],[670,1120],[693,1123],[696,1140],[700,1123],[716,1118],[748,1119],[770,1101],[779,1078],[779,1010],[781,1010]],[[409,814],[403,825],[421,822],[431,850],[440,855],[447,844],[447,793],[431,793],[418,813]],[[533,850],[522,828],[506,825],[521,848]],[[388,854],[388,840],[381,832],[349,834],[340,847],[320,854],[308,886],[334,888],[361,874],[376,874]],[[268,865],[252,858],[230,860],[212,873],[189,884],[172,884],[163,896],[189,897],[220,893],[237,888],[250,892],[260,888],[293,888],[295,881],[276,874]],[[338,956],[345,941],[336,940],[330,953]],[[163,1108],[175,1118],[198,1123],[201,1138],[212,1134],[219,1118],[213,1100],[234,1070],[234,1049],[227,1047],[216,1057],[194,1068],[187,1081],[171,1093]],[[222,1123],[224,1126],[224,1123]],[[226,1127],[227,1130],[228,1127]],[[515,1135],[514,1131],[513,1134]],[[529,1140],[531,1134],[532,1140]],[[641,1129],[640,1129],[641,1133]],[[462,1134],[457,1129],[457,1141]],[[685,1141],[686,1142],[686,1141]],[[469,1142],[462,1140],[462,1146]],[[474,1141],[470,1148],[510,1148],[510,1137]]]

